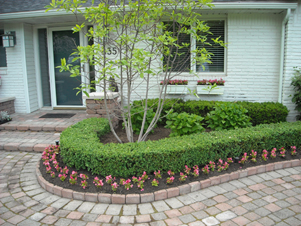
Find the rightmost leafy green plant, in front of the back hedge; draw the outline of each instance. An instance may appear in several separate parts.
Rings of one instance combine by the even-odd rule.
[[[244,107],[236,103],[217,103],[215,110],[208,113],[208,127],[213,130],[245,128],[252,125]]]

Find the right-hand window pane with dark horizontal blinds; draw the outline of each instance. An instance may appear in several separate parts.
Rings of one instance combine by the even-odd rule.
[[[197,72],[224,72],[224,54],[225,48],[215,44],[212,39],[216,39],[218,37],[219,40],[225,41],[225,21],[217,20],[217,21],[207,21],[207,25],[210,27],[210,32],[212,34],[207,34],[207,42],[211,45],[205,45],[202,42],[196,42],[196,48],[205,48],[209,53],[212,53],[209,63],[204,63],[202,65],[196,65]]]

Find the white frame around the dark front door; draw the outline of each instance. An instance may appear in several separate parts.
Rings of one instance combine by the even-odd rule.
[[[53,55],[53,31],[66,31],[72,30],[73,26],[68,27],[51,27],[47,29],[48,32],[48,60],[49,60],[49,77],[50,77],[50,96],[51,96],[51,106],[52,108],[74,108],[74,107],[85,107],[83,92],[78,95],[82,95],[82,105],[57,105],[57,96],[56,96],[56,86],[55,86],[55,68],[54,68],[54,55]],[[86,45],[86,40],[83,32],[79,32],[79,44]],[[84,67],[84,64],[81,63],[81,68]],[[83,73],[83,72],[82,72]],[[85,76],[81,76],[81,82],[85,81]]]

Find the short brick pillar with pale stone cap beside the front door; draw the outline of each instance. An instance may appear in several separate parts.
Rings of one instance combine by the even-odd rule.
[[[106,101],[111,122],[116,128],[119,123],[119,94],[116,92],[107,93]],[[90,117],[107,117],[103,92],[90,93],[86,99],[86,112]]]

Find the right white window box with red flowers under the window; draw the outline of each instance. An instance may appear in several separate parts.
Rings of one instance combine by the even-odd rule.
[[[225,80],[223,79],[203,79],[197,81],[198,94],[223,94]]]

